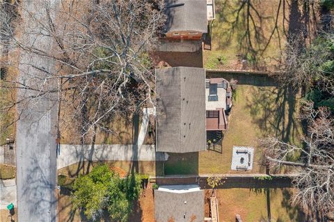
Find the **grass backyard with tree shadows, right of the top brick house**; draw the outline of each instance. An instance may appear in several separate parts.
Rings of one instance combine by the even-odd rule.
[[[287,38],[307,27],[307,42],[319,21],[315,8],[305,11],[287,0],[216,0],[215,6],[212,51],[203,54],[211,69],[273,70]]]

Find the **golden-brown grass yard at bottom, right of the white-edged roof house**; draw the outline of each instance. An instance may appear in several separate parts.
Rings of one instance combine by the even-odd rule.
[[[219,189],[219,219],[222,222],[234,222],[235,214],[239,214],[246,222],[268,221],[269,206],[273,222],[305,221],[301,209],[289,202],[291,195],[292,189],[270,189],[267,200],[267,191],[264,189]]]

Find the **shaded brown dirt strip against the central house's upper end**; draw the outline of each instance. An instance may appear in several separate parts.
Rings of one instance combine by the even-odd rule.
[[[203,67],[202,50],[195,52],[156,51],[152,53],[154,65],[163,67]]]

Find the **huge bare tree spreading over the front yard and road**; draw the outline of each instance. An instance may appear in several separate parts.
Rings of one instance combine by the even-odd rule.
[[[162,0],[71,0],[61,1],[61,6],[38,0],[34,4],[47,19],[38,19],[20,5],[18,11],[28,15],[31,27],[42,28],[22,29],[19,23],[9,23],[8,13],[1,11],[1,35],[10,38],[8,48],[48,59],[54,69],[20,64],[24,79],[2,86],[33,93],[22,93],[4,107],[6,111],[49,100],[71,109],[66,115],[85,136],[97,129],[110,130],[109,120],[117,112],[132,113],[143,104],[153,104],[154,72],[148,51],[156,45],[165,21]],[[45,51],[30,44],[26,38],[31,35],[49,37],[53,47]]]

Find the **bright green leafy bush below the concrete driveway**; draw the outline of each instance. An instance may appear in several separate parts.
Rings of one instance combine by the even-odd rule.
[[[134,174],[122,179],[109,166],[101,165],[79,176],[73,189],[74,207],[84,209],[88,219],[94,221],[108,212],[114,221],[125,222],[141,191],[141,177]]]

